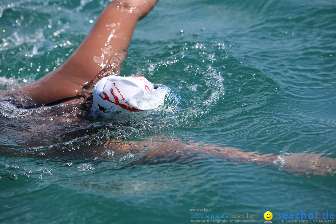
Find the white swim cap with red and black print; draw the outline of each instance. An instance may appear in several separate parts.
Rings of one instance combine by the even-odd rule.
[[[144,76],[107,76],[93,88],[94,115],[111,118],[120,112],[155,109],[164,103],[167,90],[155,86]]]

